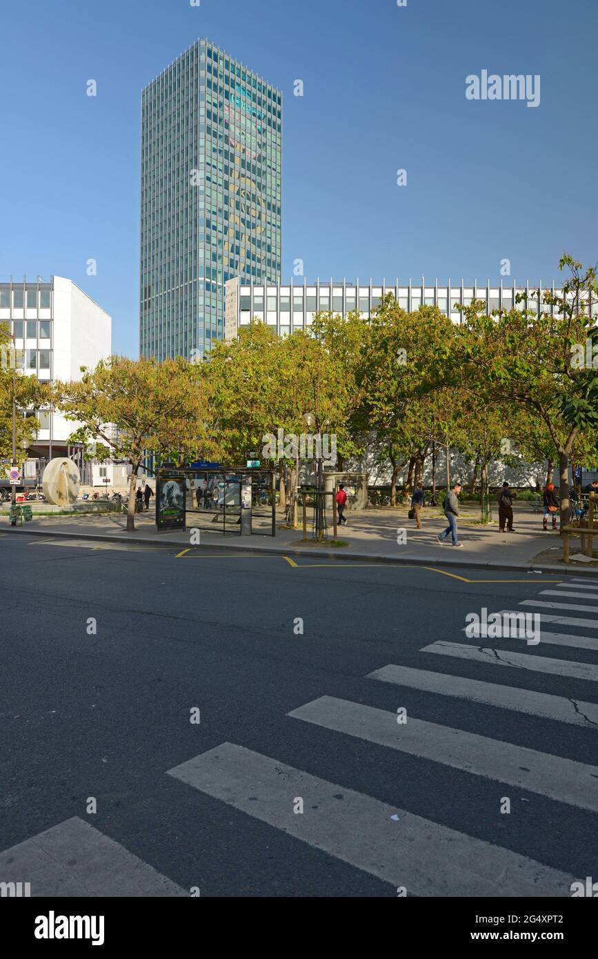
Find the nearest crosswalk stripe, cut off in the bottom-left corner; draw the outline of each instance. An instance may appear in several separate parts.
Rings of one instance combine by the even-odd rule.
[[[189,896],[78,817],[0,853],[0,881],[31,882],[32,897]]]

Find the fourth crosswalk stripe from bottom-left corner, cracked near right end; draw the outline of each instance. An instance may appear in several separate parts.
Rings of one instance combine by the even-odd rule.
[[[553,696],[547,692],[517,690],[511,686],[499,686],[496,683],[394,664],[376,669],[367,678],[414,690],[457,696],[484,706],[499,706],[513,710],[514,713],[556,719],[573,726],[586,726],[587,729],[598,726],[598,705]]]

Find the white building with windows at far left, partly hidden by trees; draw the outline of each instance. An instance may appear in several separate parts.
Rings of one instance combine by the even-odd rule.
[[[14,336],[17,368],[43,383],[81,379],[81,366],[93,368],[111,353],[112,319],[72,280],[52,276],[0,282],[0,322]],[[53,456],[73,456],[81,477],[93,481],[94,467],[83,461],[81,448],[69,446],[77,424],[56,409],[27,410],[40,423],[25,476],[37,479]],[[100,467],[95,467],[99,476]],[[118,468],[120,469],[120,467]]]

